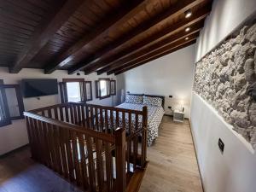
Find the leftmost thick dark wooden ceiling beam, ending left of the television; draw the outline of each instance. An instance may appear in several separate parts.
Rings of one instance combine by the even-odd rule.
[[[84,0],[56,1],[56,6],[37,26],[28,44],[18,55],[14,65],[9,68],[10,73],[19,73],[21,68],[32,61],[40,49],[48,43],[49,39],[55,35],[61,26],[73,15],[76,9],[84,3]]]

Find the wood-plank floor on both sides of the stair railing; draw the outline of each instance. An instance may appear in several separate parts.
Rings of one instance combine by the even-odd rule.
[[[189,122],[165,116],[159,138],[148,148],[148,169],[140,192],[202,192]],[[0,192],[79,192],[23,148],[0,158]]]

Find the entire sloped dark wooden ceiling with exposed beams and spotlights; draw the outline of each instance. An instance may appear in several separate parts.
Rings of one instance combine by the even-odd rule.
[[[124,73],[195,44],[211,7],[210,0],[0,0],[0,67]]]

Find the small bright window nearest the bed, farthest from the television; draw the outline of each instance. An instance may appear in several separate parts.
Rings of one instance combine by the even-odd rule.
[[[96,98],[104,99],[110,96],[110,80],[99,79],[96,81]]]

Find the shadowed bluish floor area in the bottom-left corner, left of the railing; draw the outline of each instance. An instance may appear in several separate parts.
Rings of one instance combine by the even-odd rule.
[[[0,158],[0,192],[81,192],[30,156],[22,148]]]

